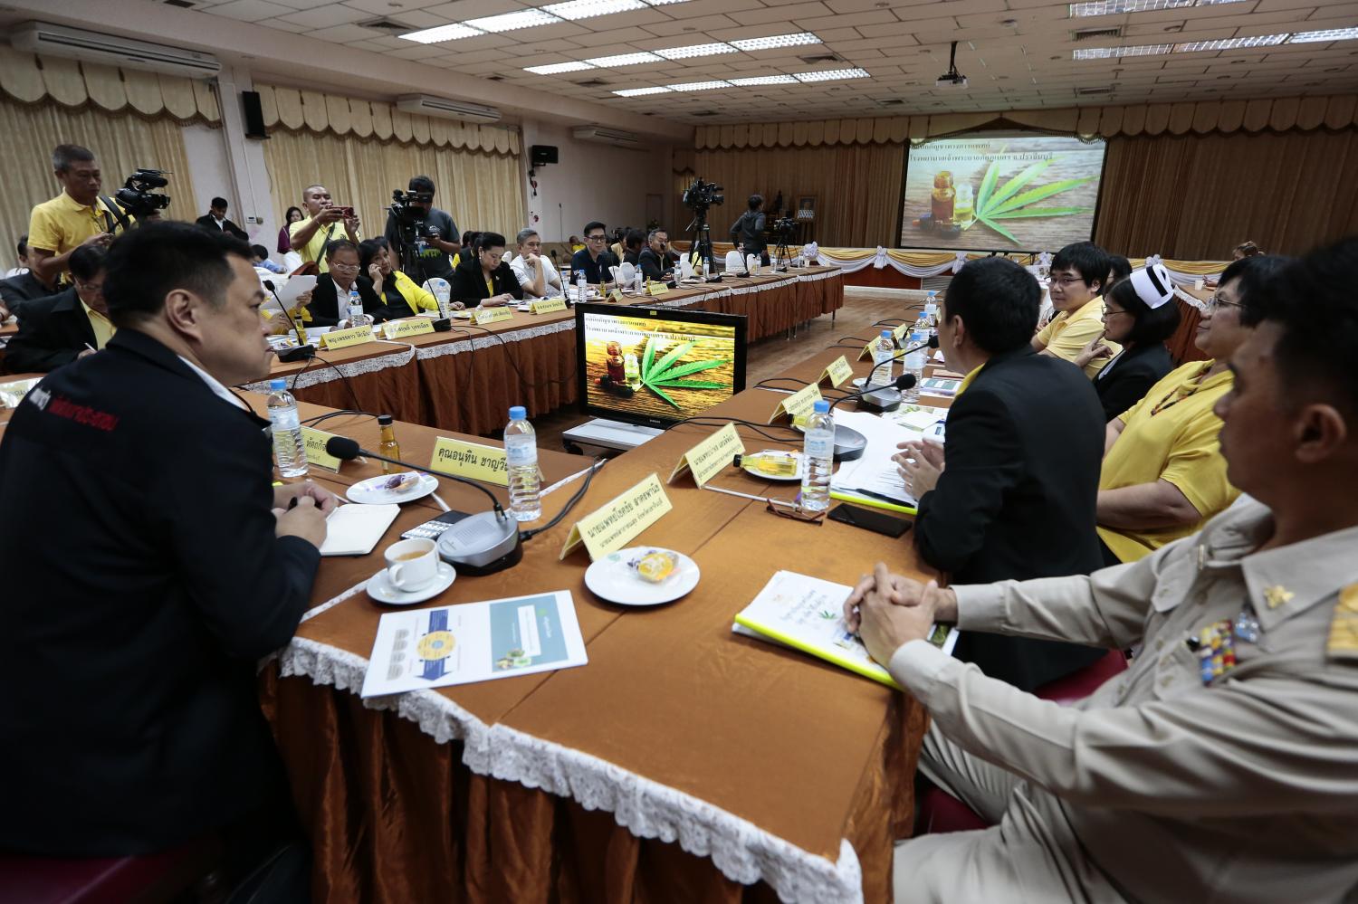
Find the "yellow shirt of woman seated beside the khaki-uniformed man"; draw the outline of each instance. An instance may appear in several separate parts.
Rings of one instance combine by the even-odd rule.
[[[1230,391],[1230,371],[1203,380],[1211,361],[1191,361],[1171,371],[1145,398],[1119,415],[1127,426],[1104,456],[1100,490],[1168,481],[1192,502],[1196,524],[1146,531],[1099,528],[1099,536],[1123,562],[1135,562],[1160,547],[1199,531],[1207,519],[1236,501],[1240,490],[1226,481],[1226,459],[1217,438],[1221,418],[1211,413]]]

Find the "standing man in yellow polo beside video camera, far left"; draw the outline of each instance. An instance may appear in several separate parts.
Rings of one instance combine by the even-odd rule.
[[[33,208],[29,214],[29,248],[38,278],[56,285],[69,269],[71,252],[81,244],[107,246],[121,210],[111,210],[100,198],[103,174],[94,152],[79,144],[58,144],[52,152],[52,170],[61,194]]]

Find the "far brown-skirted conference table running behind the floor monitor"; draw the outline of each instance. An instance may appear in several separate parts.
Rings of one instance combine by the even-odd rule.
[[[756,342],[843,307],[838,267],[800,267],[718,284],[682,284],[660,296],[625,295],[619,304],[691,308],[747,318]],[[577,400],[574,312],[531,315],[475,326],[452,319],[448,333],[428,333],[320,352],[310,361],[274,361],[272,377],[288,380],[299,400],[334,409],[391,414],[444,430],[492,433],[511,404],[528,417]],[[268,392],[268,380],[244,387]]]

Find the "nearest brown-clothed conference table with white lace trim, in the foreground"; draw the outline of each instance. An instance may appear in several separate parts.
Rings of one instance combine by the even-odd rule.
[[[839,354],[866,373],[866,362],[835,347],[785,376],[816,380]],[[733,634],[732,618],[779,569],[853,584],[885,561],[937,577],[910,535],[779,517],[762,500],[680,476],[665,486],[672,510],[634,544],[693,557],[702,578],[691,593],[660,607],[615,605],[585,588],[584,548],[562,555],[576,519],[650,474],[665,481],[721,423],[763,425],[785,398],[748,390],[712,409],[710,421],[599,464],[579,505],[527,540],[519,565],[460,576],[425,604],[569,590],[589,658],[581,668],[361,700],[378,620],[391,611],[363,582],[382,569],[382,548],[437,508],[411,502],[371,555],[322,561],[314,608],[261,672],[312,842],[315,900],[891,899],[892,840],[910,833],[926,715],[909,695]],[[376,442],[372,418],[320,426]],[[437,436],[451,436],[397,429],[417,463],[429,460]],[[773,440],[737,430],[750,452],[800,448],[788,429],[763,428]],[[595,463],[545,449],[539,460],[550,489],[545,524]],[[373,474],[375,464],[350,462],[312,478],[342,490]],[[733,467],[709,486],[782,498],[797,490]],[[485,508],[483,495],[447,479],[439,495],[454,509]]]

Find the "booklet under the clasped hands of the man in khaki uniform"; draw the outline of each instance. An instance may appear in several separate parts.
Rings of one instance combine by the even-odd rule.
[[[736,615],[732,631],[774,641],[819,656],[873,681],[900,690],[887,669],[872,661],[868,647],[845,624],[843,605],[851,586],[822,581],[794,571],[774,574],[754,603]],[[934,624],[929,642],[952,656],[957,628]]]

